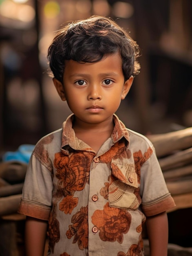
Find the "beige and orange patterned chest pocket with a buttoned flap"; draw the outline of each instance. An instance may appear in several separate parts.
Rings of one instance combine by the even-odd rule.
[[[129,162],[120,164],[111,162],[111,173],[108,200],[110,207],[136,210],[139,207],[134,191],[139,187],[135,165]]]

